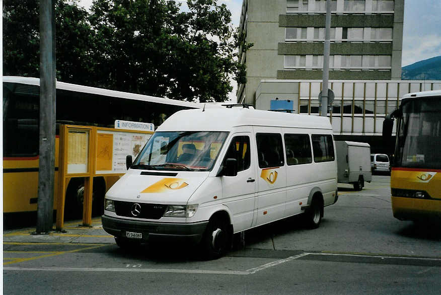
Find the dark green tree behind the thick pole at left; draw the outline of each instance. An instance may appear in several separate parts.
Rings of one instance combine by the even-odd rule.
[[[5,0],[3,7],[3,74],[39,77],[39,2]],[[76,2],[56,1],[55,38],[57,79],[91,84],[93,32],[88,13]]]

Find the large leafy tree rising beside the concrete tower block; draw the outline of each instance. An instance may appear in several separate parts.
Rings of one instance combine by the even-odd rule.
[[[99,85],[200,102],[228,99],[235,72],[231,12],[212,0],[95,0]]]

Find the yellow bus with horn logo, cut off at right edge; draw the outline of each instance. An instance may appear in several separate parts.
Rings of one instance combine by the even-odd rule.
[[[400,220],[441,220],[441,91],[409,93],[385,119],[390,137],[397,119],[391,173],[392,210]]]

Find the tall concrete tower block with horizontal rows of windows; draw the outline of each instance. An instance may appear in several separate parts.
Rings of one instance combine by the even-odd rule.
[[[244,0],[240,27],[247,83],[239,103],[256,103],[261,80],[322,79],[325,0]],[[401,79],[404,0],[331,1],[331,80]]]

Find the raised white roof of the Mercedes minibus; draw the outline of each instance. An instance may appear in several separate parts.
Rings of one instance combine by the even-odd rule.
[[[219,107],[182,110],[170,116],[156,131],[230,131],[238,126],[297,127],[332,130],[327,117]]]

